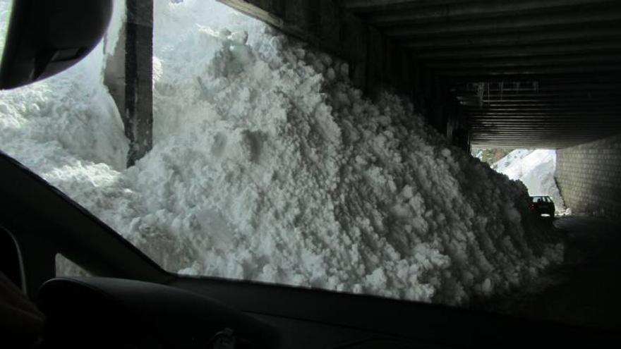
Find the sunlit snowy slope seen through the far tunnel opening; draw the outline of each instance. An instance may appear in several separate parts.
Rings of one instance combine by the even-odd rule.
[[[515,149],[492,165],[512,180],[521,180],[530,195],[549,195],[557,212],[565,212],[565,202],[557,188],[556,151],[550,149]]]

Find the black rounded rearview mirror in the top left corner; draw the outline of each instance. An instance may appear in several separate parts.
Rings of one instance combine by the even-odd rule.
[[[0,90],[78,63],[104,36],[111,0],[15,0],[0,62]]]

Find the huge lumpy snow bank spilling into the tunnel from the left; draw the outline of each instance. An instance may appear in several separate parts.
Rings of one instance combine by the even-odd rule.
[[[562,258],[523,185],[331,56],[198,0],[155,2],[155,55],[155,145],[131,169],[101,49],[1,92],[0,137],[166,269],[456,304]]]

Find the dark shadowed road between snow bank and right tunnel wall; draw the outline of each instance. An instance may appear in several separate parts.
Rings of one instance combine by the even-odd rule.
[[[621,331],[621,224],[566,217],[554,226],[567,237],[565,263],[523,293],[474,308]]]

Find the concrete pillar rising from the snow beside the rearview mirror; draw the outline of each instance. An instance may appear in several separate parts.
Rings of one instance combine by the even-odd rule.
[[[119,108],[130,141],[127,166],[133,166],[153,142],[153,1],[126,0],[125,4],[127,20],[107,61],[104,82]]]

